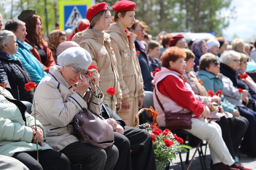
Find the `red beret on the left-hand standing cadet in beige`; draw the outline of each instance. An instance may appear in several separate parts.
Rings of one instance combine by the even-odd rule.
[[[85,17],[89,21],[91,21],[93,17],[95,17],[98,13],[100,13],[101,11],[104,11],[104,10],[109,10],[107,3],[101,2],[98,4],[94,4],[88,9],[88,11],[85,14]]]

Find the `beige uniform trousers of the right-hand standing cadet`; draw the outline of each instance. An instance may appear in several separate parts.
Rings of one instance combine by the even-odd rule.
[[[138,106],[138,97],[130,97],[129,98],[129,102],[131,104],[131,108],[130,109],[121,109],[117,115],[120,116],[124,123],[126,124],[126,126],[133,126],[133,122],[135,119],[135,115],[138,113],[139,111],[139,106]],[[136,128],[139,128],[139,118],[138,118],[138,124],[137,126],[135,126]]]

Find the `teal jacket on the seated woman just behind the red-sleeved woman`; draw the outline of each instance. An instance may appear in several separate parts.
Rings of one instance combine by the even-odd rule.
[[[197,78],[203,82],[203,86],[207,91],[212,90],[215,94],[216,91],[223,90],[223,82],[220,80],[220,78],[208,71],[200,70],[197,73]],[[221,96],[220,106],[223,107],[224,111],[229,113],[233,113],[234,109],[237,109],[235,105],[228,102],[223,94]]]

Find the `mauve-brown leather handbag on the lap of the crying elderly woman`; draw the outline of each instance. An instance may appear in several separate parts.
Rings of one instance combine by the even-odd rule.
[[[86,92],[84,100],[87,106],[91,103],[91,92]],[[93,96],[93,95],[91,95]],[[101,116],[83,108],[84,112],[74,117],[75,135],[81,143],[90,143],[94,146],[107,148],[114,144],[114,131],[107,121],[101,119]]]

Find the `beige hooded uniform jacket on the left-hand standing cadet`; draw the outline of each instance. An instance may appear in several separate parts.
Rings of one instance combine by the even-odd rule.
[[[105,32],[97,32],[87,29],[78,32],[73,37],[79,46],[87,50],[92,57],[92,64],[98,67],[100,73],[100,89],[105,95],[104,102],[109,104],[110,96],[106,92],[108,88],[116,88],[116,95],[113,96],[117,103],[121,103],[122,91],[119,85],[119,78],[116,67],[116,57],[113,49],[110,47],[110,35]]]

